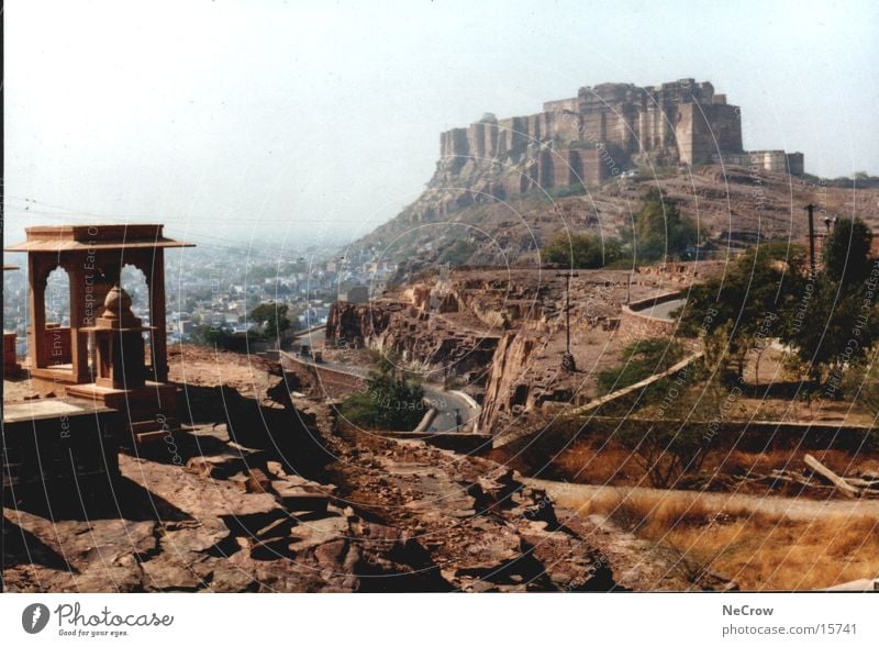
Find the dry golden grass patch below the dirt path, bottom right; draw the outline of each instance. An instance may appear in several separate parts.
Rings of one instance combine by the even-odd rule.
[[[879,518],[792,521],[668,493],[561,494],[582,515],[610,517],[638,537],[671,546],[742,590],[810,590],[879,577]]]

